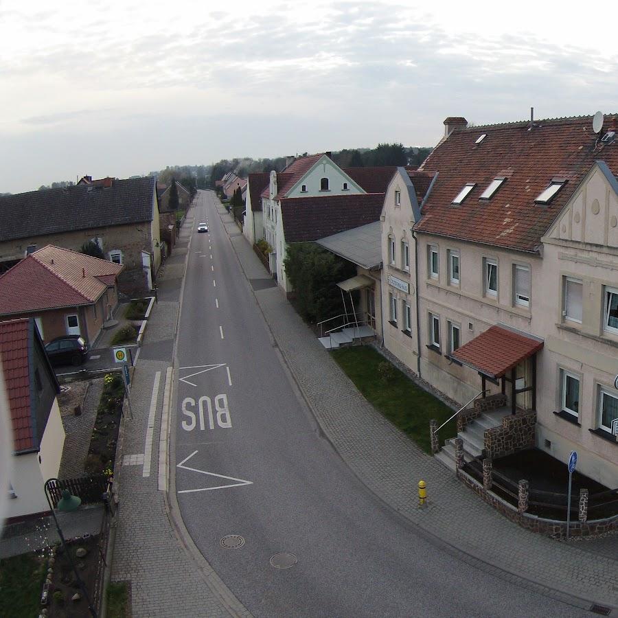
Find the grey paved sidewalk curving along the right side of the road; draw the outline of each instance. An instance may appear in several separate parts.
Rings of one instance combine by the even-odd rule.
[[[269,278],[229,214],[222,206],[218,211],[247,278]],[[471,567],[585,609],[593,603],[618,608],[618,556],[604,549],[603,539],[595,541],[600,547],[586,540],[567,544],[503,518],[363,398],[280,288],[259,287],[253,286],[255,298],[308,404],[367,487]],[[422,510],[420,479],[429,496]],[[607,541],[607,547],[616,547],[613,538]]]

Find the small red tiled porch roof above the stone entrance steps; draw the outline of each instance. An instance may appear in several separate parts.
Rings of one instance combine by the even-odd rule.
[[[457,348],[451,356],[483,374],[500,378],[542,347],[543,342],[538,339],[492,326]]]

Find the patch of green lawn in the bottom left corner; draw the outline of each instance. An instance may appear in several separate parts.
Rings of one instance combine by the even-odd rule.
[[[45,560],[35,553],[0,560],[0,616],[36,618],[41,609]]]

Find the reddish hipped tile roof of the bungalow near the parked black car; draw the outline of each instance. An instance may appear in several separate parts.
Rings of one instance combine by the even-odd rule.
[[[123,268],[122,264],[48,245],[0,277],[0,314],[92,304]]]

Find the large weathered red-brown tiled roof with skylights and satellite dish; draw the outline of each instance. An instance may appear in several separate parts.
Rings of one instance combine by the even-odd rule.
[[[614,118],[606,116],[604,127]],[[528,128],[529,122],[516,122],[455,129],[420,168],[439,175],[416,229],[534,251],[594,161],[601,159],[618,172],[618,140],[595,146],[599,136],[593,133],[592,117],[539,120]],[[483,133],[487,137],[475,144]],[[480,201],[496,176],[506,181],[490,200]],[[535,204],[553,178],[567,183],[549,205]],[[464,203],[451,205],[466,183],[476,186]]]

